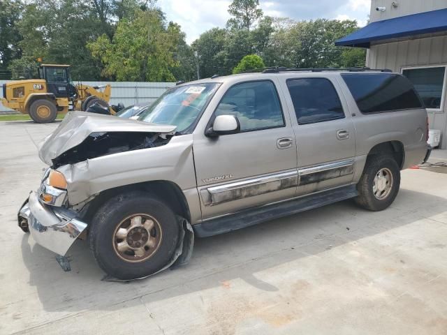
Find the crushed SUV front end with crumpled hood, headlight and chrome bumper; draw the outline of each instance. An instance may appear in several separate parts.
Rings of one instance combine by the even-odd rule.
[[[32,191],[22,204],[19,227],[31,232],[36,243],[65,255],[86,231],[82,209],[87,209],[101,191],[132,184],[129,179],[138,175],[138,159],[142,170],[147,168],[147,155],[138,151],[167,144],[174,130],[175,126],[68,113],[41,144],[39,156],[51,168],[46,170],[38,191]],[[134,155],[129,158],[129,154]],[[133,163],[132,169],[129,162]]]

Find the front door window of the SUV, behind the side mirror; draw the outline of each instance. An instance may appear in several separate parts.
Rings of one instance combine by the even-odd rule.
[[[230,87],[215,115],[233,115],[241,131],[285,126],[277,90],[270,80],[242,82]]]

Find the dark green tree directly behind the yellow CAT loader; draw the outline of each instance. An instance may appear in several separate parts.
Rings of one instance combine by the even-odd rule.
[[[71,64],[74,80],[100,79],[101,64],[86,44],[104,31],[85,0],[29,1],[17,29],[22,58],[10,62],[13,73],[34,68],[41,58],[45,63]]]

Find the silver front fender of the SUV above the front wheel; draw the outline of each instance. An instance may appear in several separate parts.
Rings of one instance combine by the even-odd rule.
[[[63,165],[71,206],[112,188],[147,181],[170,181],[183,191],[189,207],[200,208],[193,168],[192,135],[174,136],[163,147],[124,151]],[[191,212],[193,212],[191,210]],[[197,212],[200,212],[197,211]],[[191,218],[191,221],[196,218]]]

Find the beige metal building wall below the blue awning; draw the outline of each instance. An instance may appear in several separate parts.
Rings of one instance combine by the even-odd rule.
[[[434,66],[438,64],[447,64],[447,36],[372,45],[367,56],[367,66],[370,68],[389,68],[398,73],[402,73],[402,67],[406,66]],[[446,87],[444,87],[444,96],[446,94]],[[441,147],[447,148],[447,96],[444,99],[444,106],[441,106],[441,112],[428,112],[428,114],[430,128],[441,131]]]

